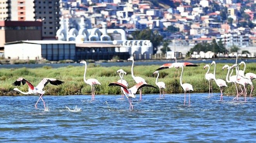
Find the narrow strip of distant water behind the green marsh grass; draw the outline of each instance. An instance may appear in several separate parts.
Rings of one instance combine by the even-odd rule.
[[[213,60],[206,60],[206,61],[199,61],[199,60],[194,60],[194,61],[182,61],[178,60],[178,62],[190,62],[190,63],[208,63],[211,64]],[[234,63],[235,64],[235,59],[232,60],[215,60],[216,63]],[[255,63],[255,59],[249,59],[249,60],[237,60],[237,63],[240,63],[241,61],[245,61],[246,63]],[[135,61],[135,65],[163,65],[165,63],[174,63],[175,61],[169,60],[169,61]],[[90,64],[90,63],[87,63]],[[100,65],[100,66],[131,66],[131,62],[107,62],[107,63],[94,63],[95,65]],[[18,65],[0,65],[0,68],[42,68],[43,66],[51,66],[52,68],[60,68],[60,67],[65,67],[65,66],[83,66],[80,65],[79,63],[57,63],[57,64],[18,64]]]

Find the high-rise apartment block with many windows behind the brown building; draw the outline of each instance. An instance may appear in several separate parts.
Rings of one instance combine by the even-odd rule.
[[[55,39],[59,0],[0,0],[0,20],[42,21],[42,39]]]

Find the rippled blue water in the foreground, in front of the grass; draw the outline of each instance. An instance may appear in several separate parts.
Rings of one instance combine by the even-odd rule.
[[[188,97],[188,96],[187,96]],[[255,142],[256,99],[215,93],[142,95],[45,95],[0,97],[1,142]],[[188,98],[187,98],[188,99]]]

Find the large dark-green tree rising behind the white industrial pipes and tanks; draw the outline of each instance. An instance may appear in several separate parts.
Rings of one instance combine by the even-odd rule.
[[[150,40],[154,48],[154,53],[156,53],[157,47],[163,42],[163,36],[158,31],[152,31],[151,29],[137,30],[132,32],[131,35],[134,40]]]

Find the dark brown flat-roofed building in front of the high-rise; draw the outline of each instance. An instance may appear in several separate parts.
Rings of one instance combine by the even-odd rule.
[[[0,48],[4,44],[22,40],[42,40],[40,21],[0,21]]]

